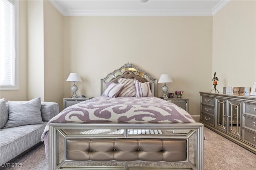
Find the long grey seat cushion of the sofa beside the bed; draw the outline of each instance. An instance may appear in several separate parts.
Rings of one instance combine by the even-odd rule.
[[[0,165],[40,143],[47,122],[43,123],[0,129]]]

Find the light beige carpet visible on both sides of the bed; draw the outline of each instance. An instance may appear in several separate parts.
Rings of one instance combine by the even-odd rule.
[[[204,130],[206,137],[204,141],[205,170],[256,170],[256,154],[208,128],[204,128]],[[46,160],[44,153],[44,144],[39,145],[34,150],[10,163],[10,165],[22,164],[22,167],[0,167],[0,169],[48,170],[48,160]]]

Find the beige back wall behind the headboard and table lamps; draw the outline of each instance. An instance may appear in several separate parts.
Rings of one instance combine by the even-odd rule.
[[[64,54],[77,72],[78,95],[100,96],[100,79],[132,63],[154,78],[168,73],[169,92],[184,91],[190,113],[199,115],[199,91],[212,79],[212,17],[65,17]],[[65,39],[65,38],[64,38]],[[66,75],[65,75],[66,74]],[[69,72],[65,72],[64,78]],[[210,83],[209,83],[210,82]],[[64,82],[67,84],[68,82]],[[208,83],[208,84],[207,84]],[[64,97],[71,95],[70,86]],[[158,84],[158,96],[162,96]]]

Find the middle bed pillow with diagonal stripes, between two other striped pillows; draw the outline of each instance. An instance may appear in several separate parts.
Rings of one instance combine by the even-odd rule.
[[[119,78],[119,84],[124,84],[121,92],[118,94],[117,97],[135,97],[136,96],[136,89],[134,85],[134,79],[131,78]]]

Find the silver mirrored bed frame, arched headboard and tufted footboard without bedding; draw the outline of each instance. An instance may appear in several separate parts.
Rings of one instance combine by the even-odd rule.
[[[101,94],[106,82],[121,77],[150,82],[157,96],[157,80],[130,63],[101,79]],[[203,170],[203,128],[202,123],[50,123],[49,169]]]

